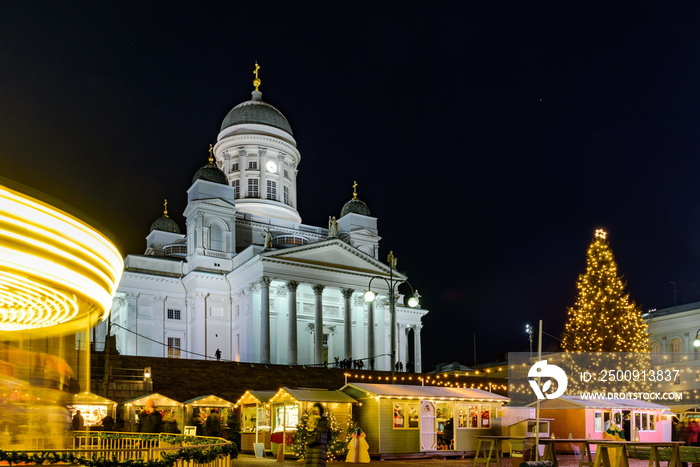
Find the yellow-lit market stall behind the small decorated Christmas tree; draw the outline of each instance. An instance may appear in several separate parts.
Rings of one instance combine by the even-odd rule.
[[[284,387],[270,399],[272,435],[271,448],[277,453],[279,445],[284,445],[285,454],[293,454],[291,445],[299,423],[299,418],[316,402],[334,414],[341,430],[348,426],[352,416],[352,397],[341,391],[329,389],[294,389]]]

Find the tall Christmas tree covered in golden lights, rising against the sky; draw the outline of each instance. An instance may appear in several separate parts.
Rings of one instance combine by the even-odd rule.
[[[617,274],[604,230],[596,230],[586,255],[586,273],[576,283],[578,297],[569,308],[562,339],[567,352],[648,352],[647,323],[630,301]]]

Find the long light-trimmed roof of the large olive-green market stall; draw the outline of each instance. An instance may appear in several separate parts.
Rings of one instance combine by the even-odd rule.
[[[348,383],[341,391],[355,389],[370,397],[403,397],[413,399],[482,400],[508,402],[498,394],[474,388],[446,388],[442,386],[412,386],[408,384]]]

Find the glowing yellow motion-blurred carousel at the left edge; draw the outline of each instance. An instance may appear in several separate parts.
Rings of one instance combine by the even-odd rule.
[[[123,261],[77,217],[0,183],[0,449],[61,449]]]

